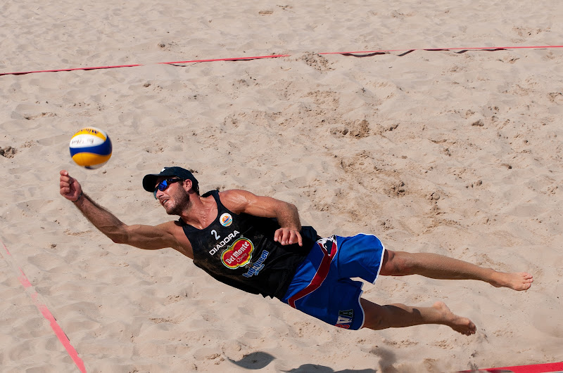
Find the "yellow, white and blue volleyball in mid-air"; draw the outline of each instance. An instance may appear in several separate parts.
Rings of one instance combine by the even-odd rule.
[[[86,127],[70,139],[70,157],[79,166],[97,169],[110,160],[111,140],[108,134],[95,127]]]

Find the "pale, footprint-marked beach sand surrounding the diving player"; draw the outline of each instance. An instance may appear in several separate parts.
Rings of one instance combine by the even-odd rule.
[[[455,372],[563,360],[563,3],[75,1],[1,6],[0,366],[74,372]],[[329,52],[401,50],[367,57]],[[457,52],[457,53],[456,53]],[[242,61],[158,63],[288,55]],[[101,169],[72,164],[83,126]],[[527,292],[380,277],[376,303],[444,301],[477,332],[358,332],[211,279],[173,249],[114,244],[58,192],[67,169],[124,223],[170,216],[163,166],[202,191],[296,204],[320,235],[373,233],[534,275]],[[30,287],[23,287],[25,273]],[[39,300],[34,300],[34,293]],[[37,303],[39,302],[39,303]]]

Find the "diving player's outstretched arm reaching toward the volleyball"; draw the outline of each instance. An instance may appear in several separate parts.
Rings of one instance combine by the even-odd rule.
[[[182,250],[182,245],[172,234],[174,222],[160,225],[126,225],[110,211],[94,202],[82,191],[82,186],[75,178],[61,171],[61,195],[72,201],[82,214],[110,240],[118,244],[129,244],[140,249],[163,249],[172,247]]]

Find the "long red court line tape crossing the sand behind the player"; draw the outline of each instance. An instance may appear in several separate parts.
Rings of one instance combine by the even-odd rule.
[[[320,55],[329,54],[341,54],[341,55],[353,55],[355,57],[368,57],[369,54],[387,54],[391,52],[405,52],[402,55],[406,55],[414,51],[502,51],[505,49],[545,49],[545,48],[563,48],[563,46],[486,46],[486,47],[467,47],[467,48],[410,48],[410,49],[381,49],[379,51],[355,51],[355,52],[323,52]],[[358,56],[362,54],[363,56]],[[241,61],[241,60],[258,60],[263,58],[280,58],[289,57],[289,54],[277,54],[277,55],[257,55],[254,57],[232,57],[232,58],[211,58],[205,60],[187,60],[187,61],[176,61],[176,62],[163,62],[158,63],[158,65],[175,65],[177,63],[204,63],[204,62],[217,62],[217,61]],[[70,69],[56,69],[56,70],[37,70],[37,71],[23,71],[23,72],[0,72],[0,77],[3,75],[24,75],[24,74],[35,74],[39,72],[63,72],[63,71],[75,71],[75,70],[103,70],[103,69],[118,69],[120,67],[138,67],[144,66],[141,64],[134,65],[115,65],[115,66],[96,66],[96,67],[75,67]]]

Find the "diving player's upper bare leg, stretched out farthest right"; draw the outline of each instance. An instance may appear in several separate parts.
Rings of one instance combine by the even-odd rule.
[[[505,273],[476,266],[448,256],[429,253],[407,253],[386,250],[380,275],[422,275],[441,280],[480,280],[494,287],[527,290],[533,277],[529,273]]]

